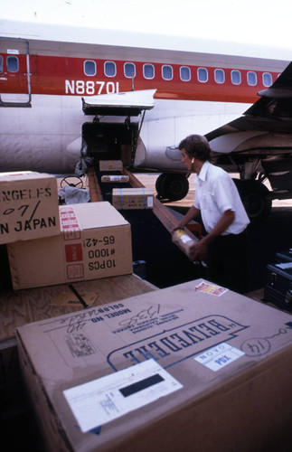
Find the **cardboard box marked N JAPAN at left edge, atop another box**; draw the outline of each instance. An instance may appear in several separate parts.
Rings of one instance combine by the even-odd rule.
[[[51,174],[0,174],[0,244],[60,233],[58,184]]]

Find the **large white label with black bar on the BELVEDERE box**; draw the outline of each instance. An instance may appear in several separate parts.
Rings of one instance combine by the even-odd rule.
[[[83,432],[180,390],[153,359],[63,391]]]

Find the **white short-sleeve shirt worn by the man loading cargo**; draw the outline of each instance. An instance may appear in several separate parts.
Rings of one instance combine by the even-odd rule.
[[[250,223],[230,175],[210,162],[204,162],[196,175],[193,206],[200,209],[207,232],[212,231],[222,214],[229,210],[235,212],[235,219],[222,235],[240,234]]]

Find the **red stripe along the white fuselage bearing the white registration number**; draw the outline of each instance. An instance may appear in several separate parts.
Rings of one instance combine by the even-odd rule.
[[[4,57],[7,55],[2,54]],[[0,92],[3,93],[25,93],[27,92],[26,57],[18,55],[19,71],[9,73],[4,71],[6,80],[2,80],[0,73]],[[61,95],[61,96],[90,96],[108,94],[112,92],[123,92],[132,89],[132,80],[124,75],[124,64],[127,61],[110,60],[116,63],[117,74],[107,77],[104,73],[104,64],[108,60],[97,60],[97,73],[94,76],[84,74],[84,61],[90,59],[75,57],[59,57],[45,55],[30,56],[31,91],[32,94]],[[241,83],[234,85],[231,82],[231,71],[237,68],[207,67],[208,80],[198,80],[197,71],[202,66],[189,65],[191,80],[180,80],[180,68],[183,65],[169,64],[173,68],[173,79],[164,80],[162,67],[166,63],[152,61],[131,61],[136,66],[136,76],[133,80],[135,90],[156,89],[155,99],[184,99],[184,100],[208,100],[222,102],[247,102],[253,103],[257,100],[257,92],[265,89],[262,83],[264,71],[254,71],[257,74],[258,83],[250,86],[247,82],[248,70],[240,69]],[[145,63],[152,64],[155,68],[155,77],[146,80],[143,75]],[[185,66],[185,65],[184,65]],[[214,70],[223,69],[225,81],[216,83]],[[250,71],[253,71],[250,68]],[[270,72],[272,81],[278,77],[278,72]]]

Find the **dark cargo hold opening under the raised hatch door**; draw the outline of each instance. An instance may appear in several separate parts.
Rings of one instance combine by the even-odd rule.
[[[99,160],[121,160],[123,166],[132,165],[138,137],[138,123],[86,122],[82,126],[82,141],[94,166]]]

